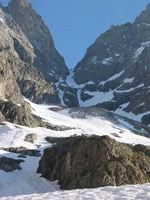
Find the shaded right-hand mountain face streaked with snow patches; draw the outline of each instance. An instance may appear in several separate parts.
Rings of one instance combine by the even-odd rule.
[[[76,83],[83,84],[80,106],[96,105],[127,116],[149,114],[149,16],[150,5],[133,24],[112,26],[88,48],[74,69]]]

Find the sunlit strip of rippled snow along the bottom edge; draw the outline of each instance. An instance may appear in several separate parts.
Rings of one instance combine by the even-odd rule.
[[[1,200],[149,200],[150,184],[3,197]]]

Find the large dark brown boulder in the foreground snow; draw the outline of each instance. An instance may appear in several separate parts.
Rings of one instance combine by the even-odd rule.
[[[108,136],[80,136],[45,149],[37,172],[61,189],[141,184],[150,181],[149,152]]]

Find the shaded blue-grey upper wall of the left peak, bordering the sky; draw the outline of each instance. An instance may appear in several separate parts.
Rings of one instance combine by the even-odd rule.
[[[51,83],[57,82],[60,78],[65,79],[69,71],[64,59],[55,49],[48,28],[31,4],[27,0],[11,0],[8,12],[32,44],[36,55],[34,64],[46,81]]]

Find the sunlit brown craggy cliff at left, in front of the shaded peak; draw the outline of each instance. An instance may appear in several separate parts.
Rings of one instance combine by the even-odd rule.
[[[34,67],[36,57],[34,48],[21,28],[5,10],[1,9],[0,19],[3,50],[1,52],[1,67],[8,66],[9,70],[6,69],[6,73],[11,74],[10,78],[7,77],[3,81],[7,86],[5,88],[6,98],[20,102],[22,97],[19,98],[19,96],[22,94],[37,103],[42,103],[46,101],[45,99],[48,102],[58,103],[59,98],[56,91],[47,84],[42,74]],[[19,94],[20,92],[21,94]]]

